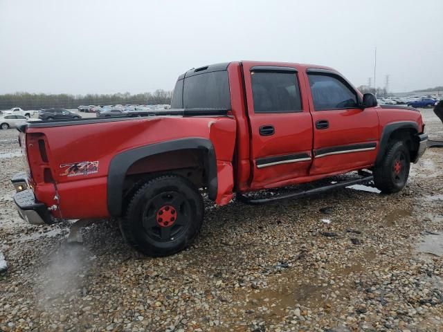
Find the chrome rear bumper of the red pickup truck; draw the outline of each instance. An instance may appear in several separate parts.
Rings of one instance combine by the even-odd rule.
[[[53,223],[53,216],[49,213],[48,208],[44,203],[35,199],[33,190],[28,189],[28,181],[25,177],[21,177],[22,175],[24,174],[17,174],[11,178],[11,182],[17,190],[14,202],[19,216],[33,225]]]

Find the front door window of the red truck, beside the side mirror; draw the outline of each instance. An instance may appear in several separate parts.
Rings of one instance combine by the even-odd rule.
[[[308,74],[308,77],[316,111],[358,106],[355,91],[338,77],[318,73]]]

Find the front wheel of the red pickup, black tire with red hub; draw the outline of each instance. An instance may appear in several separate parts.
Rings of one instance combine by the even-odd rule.
[[[403,141],[390,144],[381,165],[374,169],[374,183],[383,194],[399,192],[408,181],[410,156]]]

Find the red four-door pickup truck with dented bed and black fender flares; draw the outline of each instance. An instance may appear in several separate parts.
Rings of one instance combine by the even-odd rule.
[[[377,106],[337,71],[281,62],[229,62],[179,76],[172,109],[137,118],[42,121],[19,128],[28,174],[12,178],[30,223],[118,217],[147,255],[186,248],[204,219],[202,194],[236,193],[359,171],[358,181],[401,190],[426,149],[422,116]],[[367,169],[363,172],[363,169]],[[331,183],[329,181],[329,183]]]

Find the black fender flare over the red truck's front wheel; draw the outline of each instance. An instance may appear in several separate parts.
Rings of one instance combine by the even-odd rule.
[[[377,154],[377,159],[375,160],[375,165],[380,165],[383,160],[383,156],[386,154],[389,142],[392,138],[408,136],[411,138],[408,143],[408,149],[413,152],[415,151],[415,140],[413,136],[418,133],[418,124],[413,121],[399,121],[388,123],[383,127],[381,132],[381,138],[379,143],[379,152]],[[412,136],[412,137],[411,137]],[[417,146],[418,147],[418,146]],[[414,156],[411,154],[410,159],[413,160]]]

